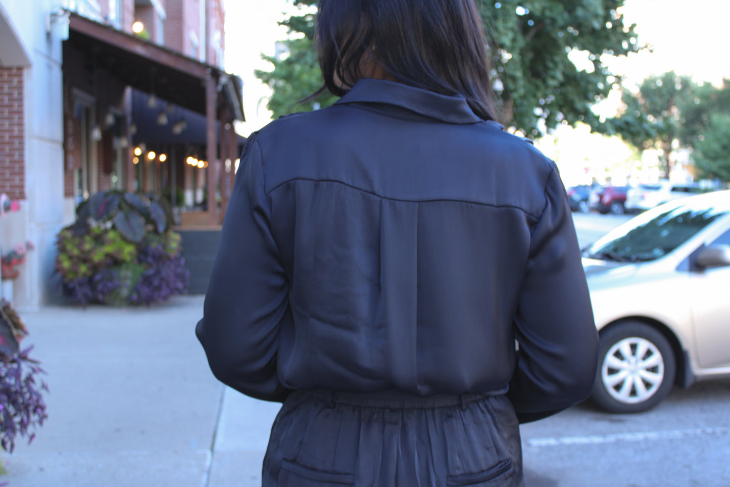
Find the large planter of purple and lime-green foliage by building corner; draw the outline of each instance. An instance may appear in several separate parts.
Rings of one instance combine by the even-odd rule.
[[[58,234],[56,269],[66,294],[83,305],[123,306],[186,292],[180,234],[169,222],[169,206],[155,195],[93,195]]]

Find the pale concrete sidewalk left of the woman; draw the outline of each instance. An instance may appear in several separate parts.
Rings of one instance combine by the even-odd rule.
[[[162,306],[24,312],[50,393],[10,487],[253,487],[279,405],[220,385],[194,333],[202,296]]]

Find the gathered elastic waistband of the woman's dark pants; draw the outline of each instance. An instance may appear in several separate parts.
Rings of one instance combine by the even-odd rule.
[[[371,393],[351,393],[340,390],[298,390],[301,394],[320,399],[328,404],[348,404],[358,407],[385,407],[390,409],[433,409],[435,407],[461,406],[491,396],[501,396],[507,388],[480,394],[439,394],[436,396],[417,396],[399,389],[379,390]]]

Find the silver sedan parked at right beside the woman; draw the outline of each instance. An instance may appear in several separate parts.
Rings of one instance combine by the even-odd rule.
[[[583,251],[599,329],[593,399],[640,412],[730,377],[730,191],[676,200]]]

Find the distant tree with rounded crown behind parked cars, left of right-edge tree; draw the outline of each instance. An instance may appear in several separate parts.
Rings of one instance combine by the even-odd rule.
[[[639,150],[657,149],[662,173],[669,177],[672,151],[683,129],[681,107],[695,99],[696,88],[691,78],[674,71],[650,76],[636,92],[624,88],[621,114],[601,124],[599,131],[621,135]]]

